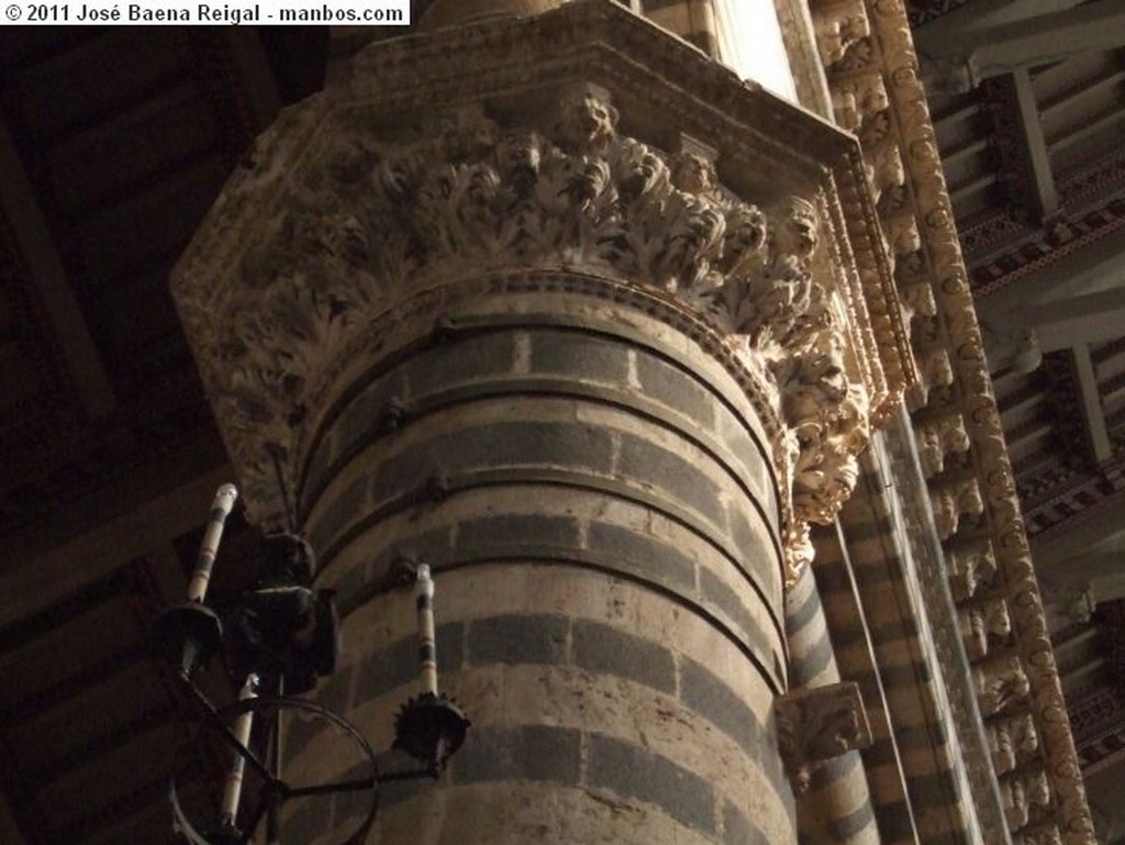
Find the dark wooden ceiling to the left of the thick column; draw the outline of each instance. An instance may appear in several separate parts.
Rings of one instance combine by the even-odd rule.
[[[171,842],[150,659],[226,459],[168,271],[323,30],[0,30],[0,842]],[[245,577],[232,520],[216,588]]]

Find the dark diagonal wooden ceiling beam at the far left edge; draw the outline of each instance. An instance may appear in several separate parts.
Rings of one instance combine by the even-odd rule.
[[[98,348],[71,288],[16,145],[0,117],[0,217],[27,264],[32,289],[51,324],[66,375],[91,419],[108,414],[114,390]]]

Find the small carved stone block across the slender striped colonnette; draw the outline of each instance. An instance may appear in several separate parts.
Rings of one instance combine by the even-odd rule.
[[[825,761],[871,745],[858,684],[845,681],[795,690],[774,701],[777,744],[798,794]]]

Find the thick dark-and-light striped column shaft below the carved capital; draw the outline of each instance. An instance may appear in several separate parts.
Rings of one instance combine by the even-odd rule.
[[[384,795],[371,842],[795,842],[777,493],[724,347],[608,280],[497,286],[372,325],[381,353],[305,439],[299,507],[345,642],[322,700],[389,745],[415,683],[414,603],[388,579],[408,557],[472,720],[440,781]],[[340,774],[314,734],[287,748]],[[287,830],[352,812],[309,803]]]

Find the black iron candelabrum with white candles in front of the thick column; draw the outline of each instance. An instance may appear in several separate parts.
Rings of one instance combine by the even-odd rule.
[[[363,811],[338,845],[362,845],[376,820],[379,786],[440,776],[469,727],[460,708],[438,692],[430,567],[412,565],[397,582],[415,587],[422,691],[398,712],[393,747],[418,766],[380,773],[375,752],[351,722],[316,702],[296,698],[335,671],[340,653],[333,593],[312,588],[316,557],[304,539],[296,534],[264,538],[254,588],[220,603],[219,610],[205,604],[223,523],[235,496],[232,485],[224,485],[216,495],[188,601],[166,611],[155,630],[158,653],[176,667],[199,714],[189,740],[191,750],[198,753],[208,740],[218,743],[231,761],[218,812],[207,822],[192,821],[172,777],[169,798],[174,827],[191,845],[246,845],[256,840],[264,826],[267,845],[280,845],[280,810],[286,802],[357,793],[363,799]],[[217,655],[241,687],[238,699],[222,708],[197,684],[198,674]],[[322,732],[332,729],[344,737],[358,764],[348,775],[321,783],[282,777],[282,727],[294,717],[318,722]]]

